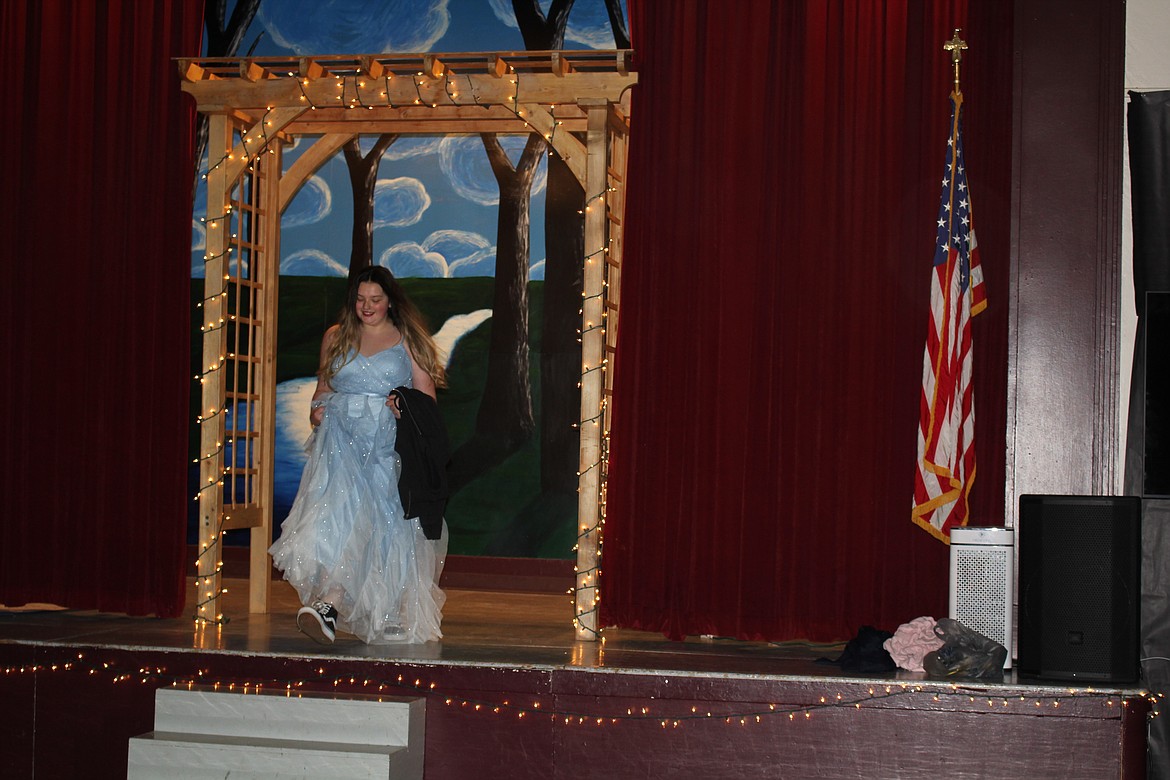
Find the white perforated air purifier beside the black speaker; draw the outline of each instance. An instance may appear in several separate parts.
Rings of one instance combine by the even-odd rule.
[[[950,616],[1007,649],[1012,667],[1014,532],[1000,527],[951,529]]]

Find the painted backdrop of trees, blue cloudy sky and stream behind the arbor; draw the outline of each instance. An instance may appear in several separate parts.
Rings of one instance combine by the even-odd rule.
[[[555,27],[553,20],[544,18],[549,0],[531,1],[539,14],[524,20],[525,34],[510,0],[260,0],[247,26],[232,29],[232,22],[239,22],[233,16],[236,5],[243,5],[241,13],[249,8],[243,0],[227,2],[222,21],[209,21],[205,36],[208,56],[519,51],[525,49],[525,40],[532,40],[534,19]],[[625,19],[624,2],[618,7]],[[553,48],[615,48],[605,0],[576,0],[562,23],[564,43]],[[226,43],[233,35],[235,41]],[[285,170],[311,140],[285,147]],[[440,392],[439,402],[454,450],[454,493],[447,508],[450,552],[570,558],[576,541],[577,436],[572,422],[578,395],[576,379],[564,367],[576,371],[580,356],[576,338],[566,339],[564,330],[566,323],[571,323],[570,329],[579,324],[580,269],[569,271],[567,283],[578,290],[576,301],[563,302],[551,290],[545,296],[550,257],[565,264],[560,260],[564,253],[558,254],[550,247],[555,242],[545,241],[545,207],[550,198],[572,201],[580,193],[578,187],[576,194],[557,194],[558,188],[562,193],[566,189],[558,177],[562,166],[556,160],[550,165],[543,149],[536,150],[538,153],[530,150],[525,157],[526,137],[501,136],[497,140],[511,167],[531,177],[528,249],[522,258],[529,277],[528,398],[521,399],[523,408],[514,408],[511,399],[484,393],[491,360],[497,237],[501,230],[525,233],[523,225],[501,223],[498,172],[493,171],[484,139],[400,136],[388,146],[383,141],[373,189],[371,260],[402,279],[447,354],[450,387]],[[363,137],[356,151],[370,156],[377,141],[377,136]],[[204,158],[206,167],[206,154]],[[573,186],[567,182],[569,189]],[[353,212],[349,168],[338,152],[309,179],[282,216],[276,533],[304,465],[307,409],[316,381],[317,353],[321,336],[344,299]],[[206,191],[199,184],[192,219],[193,305],[202,297],[205,235],[199,218],[205,213]],[[562,247],[565,241],[574,246],[572,234],[579,233],[579,220],[556,218],[551,225]],[[552,274],[564,277],[564,270],[555,268]],[[192,330],[194,338],[198,327]],[[192,350],[197,363],[199,354],[197,345]],[[569,412],[571,417],[566,417]],[[494,429],[491,421],[502,419],[517,422]],[[192,484],[197,479],[193,476]],[[193,539],[193,519],[191,527]],[[234,533],[240,538],[229,533],[228,543],[243,544],[243,532]]]

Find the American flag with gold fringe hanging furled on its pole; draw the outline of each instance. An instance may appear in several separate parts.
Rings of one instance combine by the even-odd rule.
[[[952,92],[947,172],[930,275],[930,331],[922,361],[913,511],[917,525],[948,544],[951,529],[966,525],[968,497],[975,483],[971,318],[987,306],[963,164],[962,110],[962,94]]]

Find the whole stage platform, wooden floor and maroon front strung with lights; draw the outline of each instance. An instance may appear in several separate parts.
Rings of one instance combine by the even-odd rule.
[[[227,580],[230,621],[202,629],[0,610],[0,776],[126,776],[128,741],[152,730],[154,691],[170,686],[421,698],[429,780],[1145,776],[1136,688],[818,663],[840,646],[618,629],[577,642],[566,593],[445,585],[445,637],[425,646],[314,644],[284,582],[269,614],[249,615],[246,582]]]

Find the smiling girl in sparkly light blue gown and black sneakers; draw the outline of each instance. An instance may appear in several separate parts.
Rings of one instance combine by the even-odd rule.
[[[308,463],[273,561],[304,607],[297,627],[322,643],[337,630],[366,643],[442,637],[439,588],[447,527],[428,540],[407,519],[394,451],[399,410],[391,391],[435,396],[446,386],[421,315],[391,272],[373,265],[349,287],[321,344],[309,413]]]

